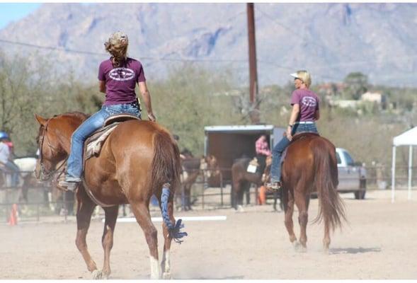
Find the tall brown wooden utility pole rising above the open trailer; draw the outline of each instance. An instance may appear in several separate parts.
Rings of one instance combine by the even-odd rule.
[[[259,111],[257,105],[258,95],[258,71],[256,69],[256,37],[255,37],[255,12],[253,3],[246,4],[248,15],[248,40],[249,40],[249,100],[251,101],[251,121],[259,122]],[[253,107],[253,108],[252,108]]]

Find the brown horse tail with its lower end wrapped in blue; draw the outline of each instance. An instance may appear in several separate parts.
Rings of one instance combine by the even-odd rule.
[[[169,236],[174,241],[181,243],[180,238],[187,236],[181,232],[183,228],[181,219],[173,218],[173,195],[180,185],[180,151],[176,142],[168,132],[157,131],[154,134],[154,159],[151,169],[151,187],[153,190],[161,190],[161,213]],[[156,193],[156,191],[154,191]],[[159,195],[156,193],[156,195]]]

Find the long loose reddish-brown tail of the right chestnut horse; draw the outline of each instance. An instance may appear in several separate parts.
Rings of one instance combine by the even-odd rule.
[[[312,142],[314,166],[316,168],[315,187],[319,196],[319,214],[314,222],[328,223],[334,231],[341,227],[341,219],[346,221],[345,206],[337,192],[338,169],[336,149],[330,141],[319,138]]]

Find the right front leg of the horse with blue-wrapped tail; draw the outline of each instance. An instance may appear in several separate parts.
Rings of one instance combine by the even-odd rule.
[[[105,223],[101,243],[104,249],[103,277],[110,275],[110,250],[113,248],[113,233],[115,231],[116,220],[118,219],[119,206],[104,207]]]

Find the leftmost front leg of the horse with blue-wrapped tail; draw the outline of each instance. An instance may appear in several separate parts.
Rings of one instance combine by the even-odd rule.
[[[90,272],[97,272],[96,262],[91,258],[90,253],[88,253],[86,236],[88,232],[88,227],[90,226],[91,215],[93,214],[94,204],[89,197],[84,192],[84,189],[79,187],[77,191],[78,207],[76,212],[76,240],[75,244],[81,255],[86,262],[87,269]],[[93,274],[94,276],[94,274]]]

